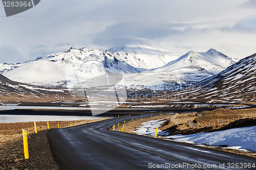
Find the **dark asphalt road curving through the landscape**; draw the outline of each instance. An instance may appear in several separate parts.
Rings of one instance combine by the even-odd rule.
[[[130,119],[130,116],[113,118],[52,129],[48,138],[53,155],[62,169],[256,169],[245,168],[253,163],[256,166],[255,158],[108,130]],[[234,164],[231,168],[232,163],[243,165]]]

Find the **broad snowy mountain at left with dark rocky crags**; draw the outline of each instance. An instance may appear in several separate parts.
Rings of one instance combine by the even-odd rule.
[[[39,58],[4,73],[13,81],[30,84],[57,85],[66,81],[66,72],[74,72],[77,76],[90,79],[106,72],[130,74],[140,72],[117,58],[108,50],[89,50],[88,48],[70,48],[66,52]],[[75,79],[75,77],[74,77]]]

